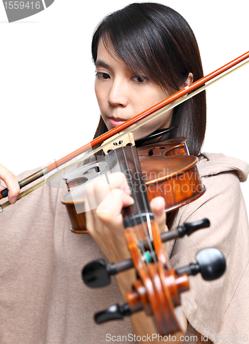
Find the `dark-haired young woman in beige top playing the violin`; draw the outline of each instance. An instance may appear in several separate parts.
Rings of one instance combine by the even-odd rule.
[[[157,3],[133,3],[110,14],[94,33],[92,54],[101,114],[96,136],[203,76],[188,23]],[[217,281],[191,279],[190,292],[182,295],[186,334],[197,331],[213,343],[222,335],[226,341],[245,340],[249,303],[243,295],[248,293],[249,232],[239,182],[246,180],[249,166],[221,154],[201,154],[206,127],[204,93],[134,131],[134,138],[139,140],[169,125],[175,126],[169,138],[188,138],[188,149],[199,157],[199,173],[206,186],[202,197],[167,217],[169,229],[204,217],[211,222],[210,228],[170,243],[171,265],[195,261],[197,251],[205,247],[219,248],[227,263],[226,274]],[[0,177],[14,203],[19,193],[16,178],[3,166]],[[142,343],[156,333],[151,319],[142,313],[132,316],[131,324],[127,319],[97,326],[91,320],[94,312],[122,303],[120,291],[129,291],[133,278],[130,272],[120,275],[118,284],[114,281],[100,290],[89,290],[80,281],[82,266],[92,259],[129,257],[121,210],[133,200],[120,175],[111,175],[110,182],[111,205],[100,182],[87,188],[89,205],[95,200],[100,204],[87,213],[91,237],[69,232],[60,203],[62,189],[44,186],[1,214],[1,343],[105,343],[118,341],[118,336],[128,343],[134,339],[132,331]],[[160,230],[167,230],[162,198],[153,200],[151,208]]]

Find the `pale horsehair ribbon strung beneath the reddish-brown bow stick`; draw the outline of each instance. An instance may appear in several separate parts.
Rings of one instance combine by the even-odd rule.
[[[224,72],[224,74],[217,76],[214,80],[210,80],[208,83],[206,83],[206,85],[199,87],[199,89],[191,92],[191,94],[188,94],[187,96],[184,96],[184,98],[182,98],[180,100],[176,100],[175,102],[171,103],[170,105],[167,105],[166,107],[164,107],[160,111],[157,111],[156,114],[149,116],[149,118],[144,118],[143,120],[141,120],[140,122],[138,122],[132,126],[132,131],[142,127],[142,125],[146,124],[150,120],[153,120],[154,118],[157,118],[158,116],[161,116],[162,114],[164,114],[164,112],[169,111],[170,109],[173,109],[173,107],[176,107],[177,105],[184,103],[184,101],[186,101],[186,100],[192,98],[193,96],[195,96],[196,94],[199,94],[200,92],[204,91],[204,89],[207,89],[208,87],[210,87],[210,85],[214,85],[215,83],[217,83],[217,81],[222,80],[226,76],[232,74],[236,70],[239,70],[241,67],[244,67],[248,64],[249,64],[249,61],[243,61],[243,63],[241,63],[240,65],[237,65],[233,69]],[[122,131],[122,133],[120,133],[120,138],[122,138],[122,136],[127,135],[127,133],[129,133],[129,132],[131,132],[131,128],[125,129],[124,131]],[[21,192],[19,194],[19,196],[17,197],[17,200],[21,200],[21,198],[24,197],[25,195],[28,195],[29,193],[32,193],[32,191],[39,189],[39,187],[46,184],[46,182],[56,178],[58,175],[61,175],[61,173],[63,173],[63,171],[67,171],[68,169],[72,169],[72,167],[74,167],[79,162],[82,162],[82,161],[86,160],[87,158],[90,158],[93,154],[98,153],[98,151],[100,151],[102,148],[105,148],[108,144],[115,142],[115,140],[116,140],[116,138],[109,140],[109,142],[102,144],[101,147],[97,147],[96,149],[90,151],[89,153],[86,153],[82,158],[78,158],[78,159],[76,159],[76,161],[72,162],[68,166],[66,166],[66,167],[64,166],[61,170],[52,173],[46,180],[42,180],[41,182],[38,182],[36,185],[31,186],[30,188]],[[1,204],[0,205],[0,212],[3,211],[3,209],[6,208],[7,206],[9,206],[10,204],[11,203],[8,201]]]

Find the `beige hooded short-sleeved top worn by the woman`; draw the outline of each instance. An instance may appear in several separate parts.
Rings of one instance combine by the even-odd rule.
[[[211,226],[170,243],[173,267],[195,262],[204,247],[219,248],[226,257],[223,277],[212,282],[191,277],[191,290],[182,294],[189,323],[214,343],[217,334],[249,337],[249,228],[239,185],[248,172],[241,160],[203,155],[199,173],[206,193],[180,208],[175,226],[204,217]],[[129,319],[103,325],[93,321],[94,312],[123,300],[115,278],[98,290],[84,285],[83,266],[105,257],[89,235],[69,230],[61,204],[65,193],[65,187],[45,185],[0,214],[0,343],[102,344],[121,336],[122,343],[133,343]]]

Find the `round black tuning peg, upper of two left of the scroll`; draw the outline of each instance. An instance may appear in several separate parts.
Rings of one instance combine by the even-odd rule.
[[[116,275],[118,272],[122,272],[133,268],[132,259],[120,261],[116,264],[105,264],[103,260],[90,261],[82,270],[83,281],[90,288],[101,288],[109,286],[111,283],[110,276]]]

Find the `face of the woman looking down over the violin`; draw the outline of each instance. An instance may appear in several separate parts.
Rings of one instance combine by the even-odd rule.
[[[114,59],[101,39],[96,60],[95,92],[101,116],[109,130],[171,95],[152,83],[146,75],[143,78],[136,75],[121,58]],[[135,140],[169,127],[172,114],[173,109],[166,111],[133,131]]]

